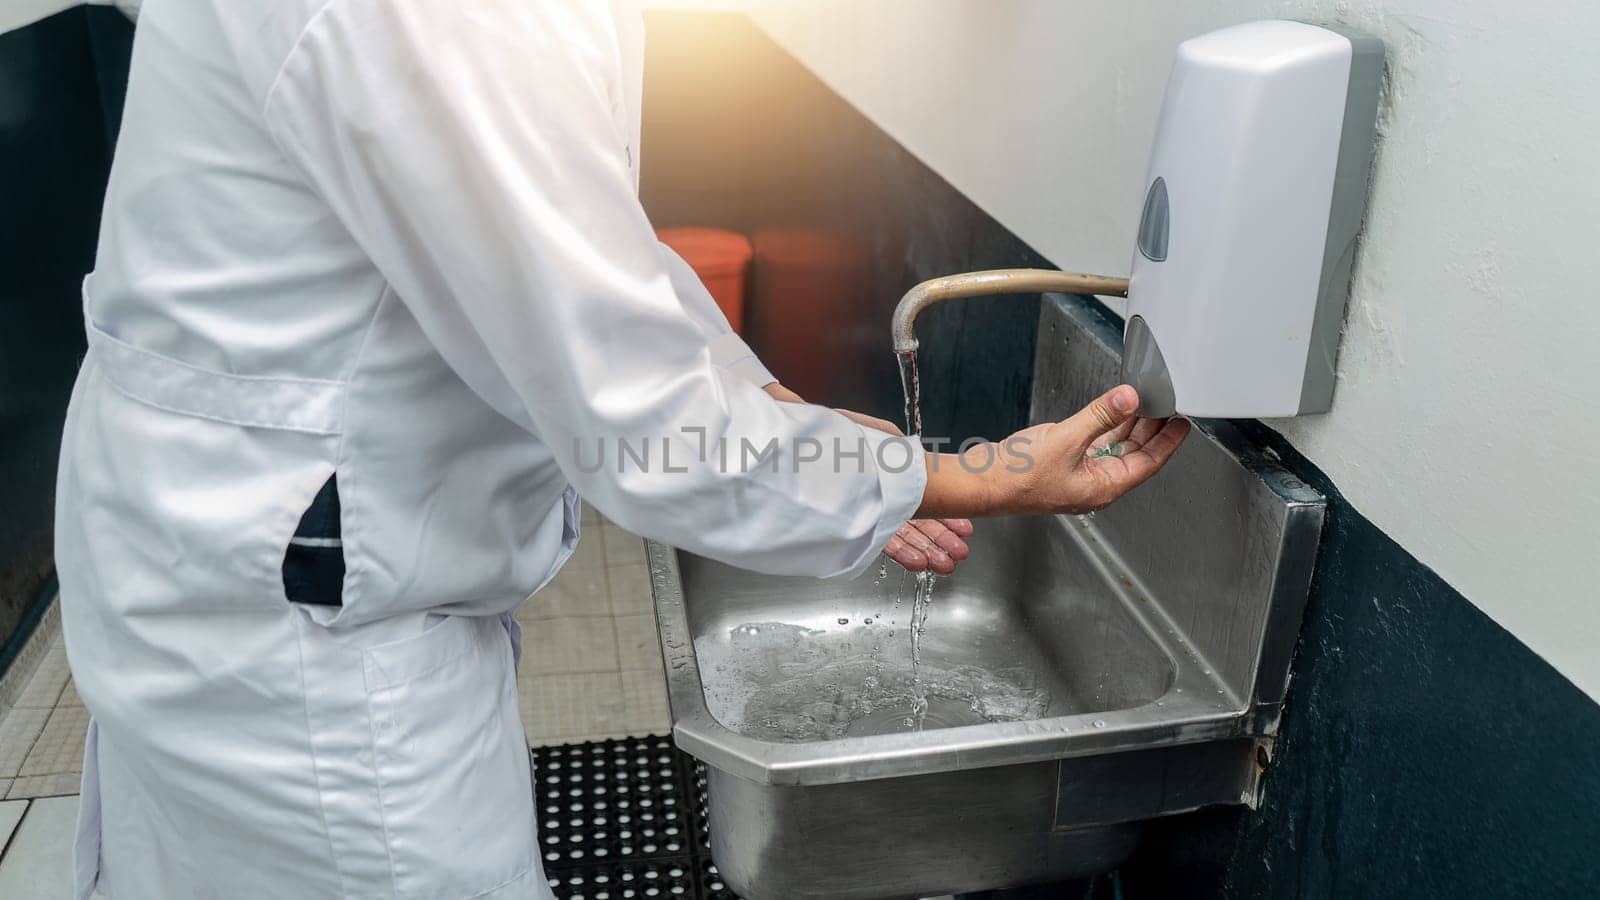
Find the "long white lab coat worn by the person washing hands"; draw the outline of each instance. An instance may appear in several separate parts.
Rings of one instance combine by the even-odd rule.
[[[771,400],[654,242],[642,45],[603,0],[144,3],[58,496],[80,897],[547,897],[507,613],[578,492],[813,575],[917,508],[920,448]],[[773,437],[866,453],[699,458]],[[336,605],[290,602],[334,474]]]

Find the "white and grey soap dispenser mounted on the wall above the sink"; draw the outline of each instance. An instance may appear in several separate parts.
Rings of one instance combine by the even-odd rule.
[[[1141,415],[1328,410],[1382,59],[1288,21],[1178,46],[1128,287]]]

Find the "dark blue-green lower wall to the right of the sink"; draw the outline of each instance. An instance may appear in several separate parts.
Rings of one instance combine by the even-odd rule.
[[[1330,498],[1266,804],[1160,823],[1125,897],[1600,897],[1600,705],[1261,440]]]

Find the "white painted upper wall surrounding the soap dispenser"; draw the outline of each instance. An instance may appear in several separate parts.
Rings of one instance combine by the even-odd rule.
[[[1600,698],[1600,6],[749,8],[1053,263],[1107,274],[1128,271],[1182,38],[1261,18],[1381,35],[1390,82],[1334,407],[1270,424],[1411,554]]]

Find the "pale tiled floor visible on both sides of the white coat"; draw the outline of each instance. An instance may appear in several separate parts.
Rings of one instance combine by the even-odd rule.
[[[531,745],[670,730],[645,543],[584,509],[584,538],[517,610],[522,721]],[[70,894],[88,709],[56,637],[0,716],[0,897]]]

